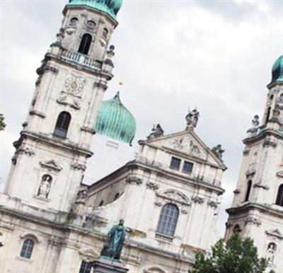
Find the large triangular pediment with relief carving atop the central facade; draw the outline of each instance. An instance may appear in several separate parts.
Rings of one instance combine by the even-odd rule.
[[[166,149],[169,152],[179,153],[180,156],[196,158],[212,165],[218,165],[219,168],[226,169],[224,163],[221,162],[212,150],[191,130],[160,136],[156,139],[146,141],[146,143],[160,147],[160,149]]]

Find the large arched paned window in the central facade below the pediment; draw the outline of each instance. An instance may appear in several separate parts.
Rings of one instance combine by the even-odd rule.
[[[173,238],[179,218],[179,209],[175,204],[166,204],[161,210],[156,233]]]

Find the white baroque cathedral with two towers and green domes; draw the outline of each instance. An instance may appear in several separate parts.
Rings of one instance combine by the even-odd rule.
[[[0,272],[96,273],[93,262],[120,219],[129,273],[187,273],[195,254],[219,240],[224,149],[195,133],[197,109],[183,131],[165,134],[157,124],[135,149],[137,124],[122,95],[103,101],[121,6],[64,7],[0,193]],[[268,272],[283,273],[283,56],[267,88],[262,120],[255,115],[243,139],[225,237],[253,238]]]

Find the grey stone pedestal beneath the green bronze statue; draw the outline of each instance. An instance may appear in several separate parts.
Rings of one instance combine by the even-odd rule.
[[[93,262],[93,273],[126,273],[128,270],[122,262],[108,260],[103,257]]]

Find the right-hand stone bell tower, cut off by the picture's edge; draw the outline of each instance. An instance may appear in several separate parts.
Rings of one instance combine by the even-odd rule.
[[[245,148],[233,205],[227,209],[226,238],[253,238],[270,270],[281,272],[283,257],[283,56],[272,67],[262,122],[258,115],[243,140]]]

